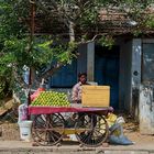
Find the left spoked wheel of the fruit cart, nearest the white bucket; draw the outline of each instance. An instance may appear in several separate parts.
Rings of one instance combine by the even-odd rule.
[[[38,114],[32,124],[33,140],[40,145],[57,144],[64,134],[64,121],[59,114]]]

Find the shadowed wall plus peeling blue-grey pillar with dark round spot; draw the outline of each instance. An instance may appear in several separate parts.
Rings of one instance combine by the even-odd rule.
[[[142,43],[140,38],[123,41],[120,51],[120,107],[139,116]]]

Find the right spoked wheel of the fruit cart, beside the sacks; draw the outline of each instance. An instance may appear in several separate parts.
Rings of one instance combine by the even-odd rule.
[[[82,145],[96,147],[107,140],[108,123],[102,116],[85,113],[76,121],[75,134]]]

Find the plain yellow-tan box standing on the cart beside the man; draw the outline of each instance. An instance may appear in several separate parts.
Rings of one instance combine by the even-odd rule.
[[[82,107],[109,107],[110,86],[82,86]]]

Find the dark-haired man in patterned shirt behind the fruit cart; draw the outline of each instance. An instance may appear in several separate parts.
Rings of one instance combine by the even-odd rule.
[[[72,99],[75,103],[81,103],[81,86],[87,84],[87,74],[78,74],[78,82],[73,87]]]

